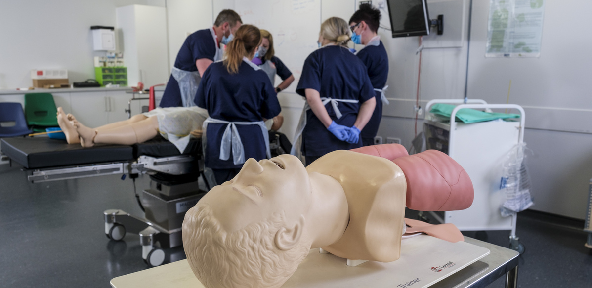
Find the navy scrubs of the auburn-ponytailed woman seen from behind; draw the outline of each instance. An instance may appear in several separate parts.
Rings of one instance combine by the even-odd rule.
[[[281,111],[274,86],[265,72],[255,70],[244,61],[235,74],[230,74],[223,62],[212,63],[201,79],[195,104],[207,109],[211,118],[230,122],[262,121],[263,118],[274,118]],[[232,152],[229,160],[219,158],[220,144],[227,125],[209,123],[205,131],[205,166],[213,169],[214,173],[217,169],[240,169],[243,166],[233,163]],[[266,159],[266,143],[259,125],[236,127],[244,145],[244,158],[258,161]],[[230,180],[234,175],[228,177],[227,180]],[[221,184],[220,180],[218,184]]]

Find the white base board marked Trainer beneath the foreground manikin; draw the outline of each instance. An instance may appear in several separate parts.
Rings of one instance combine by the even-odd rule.
[[[368,261],[349,267],[346,259],[313,249],[282,287],[427,287],[488,254],[490,250],[478,245],[452,243],[428,235],[403,239],[401,257],[391,263]],[[115,277],[111,286],[204,287],[187,260]]]

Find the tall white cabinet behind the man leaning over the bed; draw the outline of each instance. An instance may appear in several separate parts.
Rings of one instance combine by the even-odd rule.
[[[166,83],[170,75],[166,8],[130,5],[117,8],[116,15],[128,85],[143,82],[148,88]]]

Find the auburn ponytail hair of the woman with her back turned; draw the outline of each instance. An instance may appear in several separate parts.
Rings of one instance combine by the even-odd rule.
[[[224,66],[230,74],[239,72],[243,57],[249,56],[261,44],[259,28],[253,25],[240,25],[234,33],[234,39],[226,46]]]

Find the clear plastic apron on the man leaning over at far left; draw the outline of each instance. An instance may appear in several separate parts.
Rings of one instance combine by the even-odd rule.
[[[216,43],[216,54],[214,56],[214,62],[216,62],[222,60],[223,51],[220,47],[218,47],[218,41],[216,40],[213,28],[210,28],[210,33],[214,38],[214,43]],[[177,83],[179,83],[179,90],[181,90],[181,101],[183,102],[183,106],[196,106],[193,102],[193,99],[195,98],[195,93],[197,93],[197,88],[200,85],[200,72],[197,70],[191,72],[185,71],[173,66],[170,74],[173,75],[173,78],[175,78]]]

